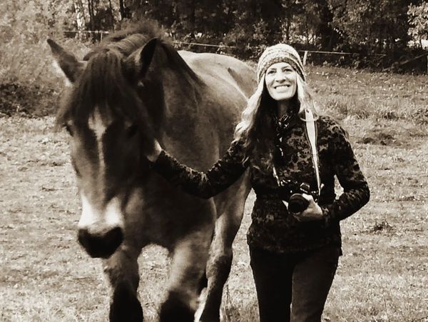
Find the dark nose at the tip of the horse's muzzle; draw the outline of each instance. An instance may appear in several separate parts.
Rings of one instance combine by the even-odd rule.
[[[120,227],[98,233],[90,233],[88,229],[79,229],[78,231],[78,242],[91,257],[110,257],[122,241],[123,232]]]

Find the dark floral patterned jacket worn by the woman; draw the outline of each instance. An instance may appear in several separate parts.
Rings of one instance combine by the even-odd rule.
[[[330,117],[320,116],[317,124],[317,149],[320,181],[323,185],[318,204],[320,221],[299,222],[287,211],[277,180],[250,162],[242,163],[241,144],[230,146],[222,159],[207,172],[184,166],[162,151],[153,168],[170,183],[195,196],[210,198],[233,184],[250,168],[251,185],[257,196],[252,223],[247,233],[248,244],[276,253],[308,251],[325,245],[341,246],[340,221],[351,216],[369,201],[370,191],[345,131]],[[276,166],[280,179],[309,183],[317,190],[305,123],[295,122],[282,137],[284,162]],[[335,176],[343,192],[336,198]]]

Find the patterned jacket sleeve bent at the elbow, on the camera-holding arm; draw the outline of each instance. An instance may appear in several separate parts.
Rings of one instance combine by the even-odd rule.
[[[370,199],[369,186],[345,131],[336,124],[331,135],[332,162],[343,193],[332,204],[321,207],[327,225],[351,216]]]

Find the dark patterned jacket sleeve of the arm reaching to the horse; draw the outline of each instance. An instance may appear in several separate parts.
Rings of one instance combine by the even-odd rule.
[[[231,186],[245,172],[243,151],[233,142],[225,155],[207,172],[196,171],[162,151],[153,169],[183,191],[200,198],[210,198]]]

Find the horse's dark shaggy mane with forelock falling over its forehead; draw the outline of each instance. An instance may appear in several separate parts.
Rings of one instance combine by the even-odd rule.
[[[68,121],[86,123],[96,108],[101,117],[113,113],[116,116],[146,123],[147,111],[143,109],[141,99],[130,81],[126,79],[124,59],[150,39],[157,38],[168,49],[166,52],[170,66],[176,67],[178,71],[192,79],[198,79],[163,34],[157,24],[145,21],[131,29],[118,31],[106,37],[89,51],[83,58],[88,61],[86,68],[62,102],[56,123],[59,126]]]

